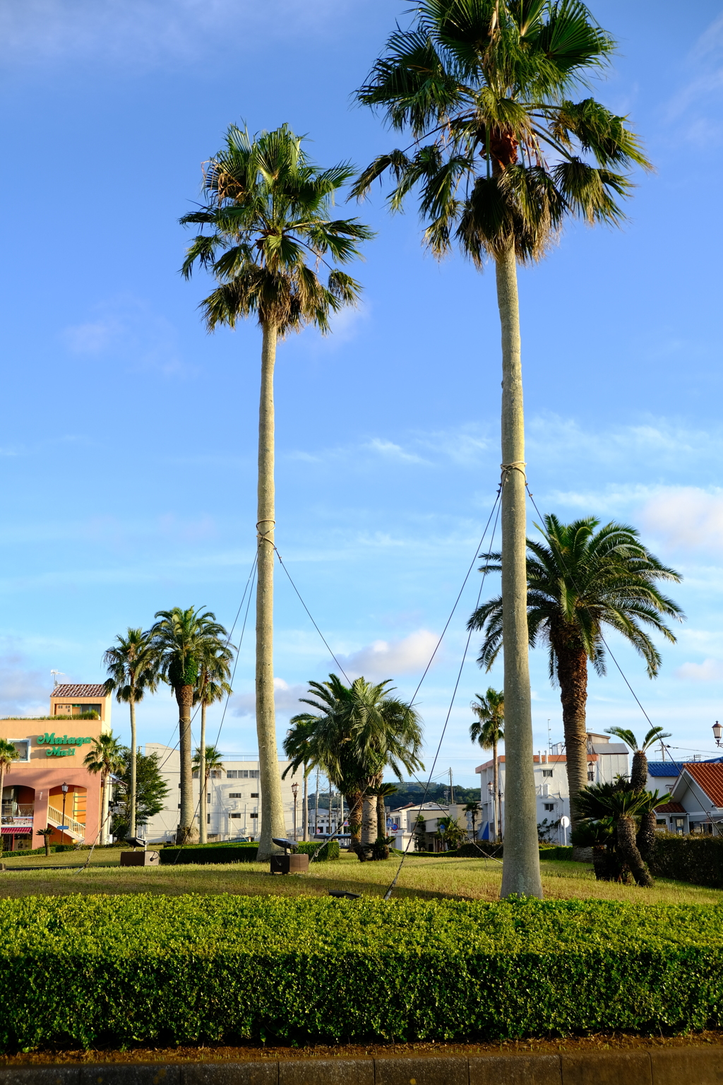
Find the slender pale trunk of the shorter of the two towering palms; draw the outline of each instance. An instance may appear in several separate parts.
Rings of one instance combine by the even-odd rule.
[[[259,744],[261,831],[258,858],[276,851],[272,837],[284,837],[284,806],[281,796],[276,713],[273,698],[273,561],[274,561],[274,418],[273,367],[276,359],[276,329],[263,326],[261,346],[261,394],[259,397],[259,478],[256,582],[256,733]]]

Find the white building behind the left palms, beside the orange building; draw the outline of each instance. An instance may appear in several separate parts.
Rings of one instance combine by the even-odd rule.
[[[178,828],[178,812],[180,809],[181,789],[181,766],[178,750],[162,745],[158,742],[146,742],[146,756],[152,753],[158,754],[160,775],[168,787],[165,808],[149,819],[145,832],[146,839],[153,843],[172,841],[176,839]],[[279,763],[281,773],[288,766],[289,762]],[[302,837],[302,813],[301,800],[304,795],[302,774],[288,774],[285,780],[281,781],[282,801],[284,804],[284,819],[286,822],[286,834],[293,838],[294,834],[294,792],[292,783],[298,783],[296,799],[296,826],[297,835]],[[199,809],[199,780],[198,774],[194,773],[193,797],[196,812]],[[211,773],[206,792],[206,832],[209,841],[216,840],[237,840],[241,837],[247,839],[258,838],[261,804],[259,788],[259,763],[258,761],[224,761],[220,769]],[[196,813],[196,819],[198,814]]]

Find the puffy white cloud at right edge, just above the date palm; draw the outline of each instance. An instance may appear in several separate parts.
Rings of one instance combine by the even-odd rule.
[[[723,547],[723,490],[666,487],[645,505],[642,520],[648,531],[670,547],[720,551]]]

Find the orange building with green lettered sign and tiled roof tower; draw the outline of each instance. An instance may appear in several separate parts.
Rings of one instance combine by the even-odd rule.
[[[92,843],[99,838],[101,775],[83,758],[93,739],[111,730],[111,698],[100,685],[56,686],[50,713],[0,719],[0,737],[18,752],[2,787],[2,846],[28,851],[52,829],[53,844]]]

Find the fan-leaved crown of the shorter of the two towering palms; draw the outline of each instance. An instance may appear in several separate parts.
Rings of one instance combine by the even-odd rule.
[[[357,302],[350,276],[331,267],[323,285],[309,266],[346,264],[372,237],[356,218],[332,218],[334,194],[352,176],[347,163],[320,170],[287,125],[254,139],[229,128],[206,168],[206,206],[181,218],[210,231],[194,239],[182,267],[189,278],[198,263],[219,282],[201,303],[209,330],[256,314],[280,335],[306,323],[328,331],[330,312]]]

